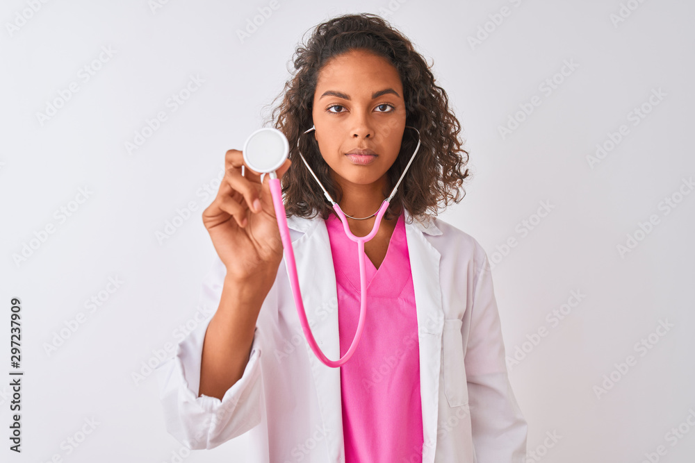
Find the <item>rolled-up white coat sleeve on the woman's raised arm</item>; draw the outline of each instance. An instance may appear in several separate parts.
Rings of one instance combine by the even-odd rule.
[[[220,304],[226,269],[215,262],[202,285],[199,307]],[[256,326],[243,376],[219,398],[198,396],[205,332],[213,314],[177,344],[174,356],[156,368],[167,431],[191,449],[215,448],[261,423],[261,342]]]

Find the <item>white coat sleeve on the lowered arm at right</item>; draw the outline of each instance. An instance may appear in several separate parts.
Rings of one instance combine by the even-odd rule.
[[[480,248],[466,347],[466,381],[478,463],[525,463],[528,424],[507,375],[500,315],[487,255]]]

